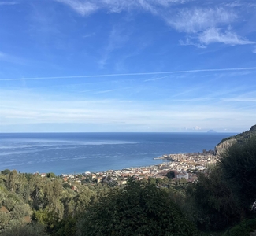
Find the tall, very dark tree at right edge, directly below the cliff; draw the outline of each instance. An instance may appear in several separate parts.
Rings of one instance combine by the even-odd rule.
[[[232,145],[218,166],[243,216],[256,199],[256,136]]]

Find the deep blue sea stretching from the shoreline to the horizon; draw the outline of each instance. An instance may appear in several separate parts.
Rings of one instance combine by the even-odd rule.
[[[0,133],[0,171],[78,174],[159,164],[210,150],[235,133]]]

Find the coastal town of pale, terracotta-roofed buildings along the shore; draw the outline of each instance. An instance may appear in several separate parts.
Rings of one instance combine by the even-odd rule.
[[[210,165],[215,164],[218,160],[213,150],[203,150],[202,153],[178,153],[165,154],[161,159],[161,164],[155,164],[145,167],[123,168],[121,170],[108,170],[102,172],[91,173],[86,171],[83,174],[62,174],[62,179],[67,183],[113,183],[116,185],[125,185],[127,179],[134,177],[136,179],[165,179],[170,171],[173,172],[173,180],[183,183],[193,183],[197,179],[198,172],[203,172]],[[45,174],[41,174],[42,177]],[[180,183],[180,182],[179,182]],[[73,187],[76,190],[76,187]]]

